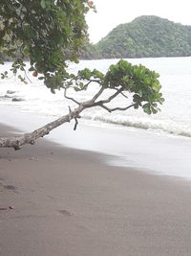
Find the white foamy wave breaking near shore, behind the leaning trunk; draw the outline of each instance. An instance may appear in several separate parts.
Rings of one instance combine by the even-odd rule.
[[[15,96],[15,95],[14,95]],[[17,97],[20,97],[21,95],[17,95]],[[22,95],[23,99],[25,101],[22,102],[11,102],[11,97],[0,97],[0,105],[14,105],[16,107],[22,108],[24,111],[27,112],[37,112],[40,115],[44,116],[54,116],[59,117],[60,113],[67,111],[68,105],[63,105],[62,101],[58,101],[57,99],[54,101],[52,100],[51,104],[50,101],[42,101],[39,99],[26,99],[24,95]],[[66,103],[65,103],[66,104]],[[135,112],[134,112],[135,113]],[[176,136],[184,136],[184,137],[191,137],[191,128],[188,124],[180,123],[180,121],[172,121],[168,120],[167,118],[164,119],[162,116],[162,119],[156,119],[149,117],[142,117],[137,115],[137,112],[135,115],[128,115],[127,113],[113,113],[112,115],[105,114],[104,111],[99,111],[98,109],[92,109],[82,115],[82,118],[89,122],[89,125],[98,125],[101,126],[101,124],[113,124],[116,126],[122,126],[126,128],[141,128],[145,130],[152,130],[154,132],[158,133],[165,133],[165,134],[171,134]],[[101,124],[100,124],[101,123]]]

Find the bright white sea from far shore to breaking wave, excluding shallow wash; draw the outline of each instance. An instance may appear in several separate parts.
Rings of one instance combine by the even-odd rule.
[[[143,64],[160,74],[161,92],[165,103],[160,105],[161,111],[156,115],[147,115],[141,109],[129,109],[108,113],[102,108],[95,107],[83,112],[83,121],[92,126],[106,127],[115,124],[117,128],[142,128],[151,132],[165,133],[166,135],[191,137],[191,58],[134,58],[127,59],[133,64]],[[69,65],[69,71],[88,67],[97,68],[107,72],[110,64],[118,59],[81,60],[79,64]],[[0,71],[9,67],[10,63],[0,66]],[[15,77],[0,81],[0,105],[12,105],[23,111],[37,112],[44,116],[59,117],[68,112],[69,105],[75,107],[73,102],[64,99],[63,90],[51,93],[42,81],[28,74],[31,81],[23,84]],[[12,90],[15,93],[8,94]],[[97,90],[92,84],[86,92],[70,95],[78,101],[91,99]],[[106,92],[109,94],[109,92]],[[22,98],[22,102],[12,102],[12,97]],[[126,99],[121,97],[110,106],[127,105]],[[113,126],[115,128],[115,126]]]

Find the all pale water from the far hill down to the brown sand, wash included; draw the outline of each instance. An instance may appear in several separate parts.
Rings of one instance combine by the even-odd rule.
[[[48,139],[66,147],[104,153],[104,161],[111,165],[136,167],[143,172],[183,177],[191,180],[191,58],[127,59],[159,72],[165,103],[156,115],[141,109],[108,113],[95,107],[84,111],[77,131],[74,122],[56,128]],[[70,65],[71,72],[88,67],[107,72],[118,59],[83,60]],[[0,66],[7,69],[10,63]],[[63,90],[51,93],[42,83],[28,74],[27,85],[11,77],[0,80],[0,122],[32,131],[53,121],[74,108],[64,99]],[[78,101],[91,99],[96,84],[82,93],[70,91]],[[8,90],[14,93],[9,94]],[[108,95],[109,92],[106,92]],[[22,102],[12,102],[12,98]],[[126,105],[124,98],[112,104]],[[29,113],[29,118],[26,118]],[[94,127],[94,128],[91,128]]]

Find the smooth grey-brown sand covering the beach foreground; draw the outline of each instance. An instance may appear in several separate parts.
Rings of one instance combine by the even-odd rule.
[[[0,210],[0,255],[191,255],[191,183],[103,158],[44,139],[0,149],[0,207],[14,206]]]

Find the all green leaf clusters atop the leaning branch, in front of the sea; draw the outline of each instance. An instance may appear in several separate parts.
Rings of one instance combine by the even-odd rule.
[[[96,81],[104,89],[116,90],[118,94],[123,92],[133,94],[132,106],[136,109],[142,107],[147,114],[156,114],[159,111],[158,105],[164,102],[159,92],[161,85],[158,79],[159,74],[155,71],[143,65],[132,65],[123,59],[111,65],[105,75],[96,69],[91,71],[86,68],[73,77],[76,91],[85,89],[86,84],[89,84],[84,84],[82,81]]]

